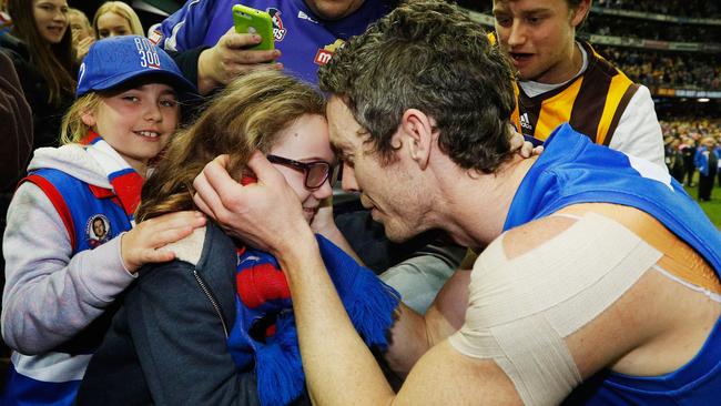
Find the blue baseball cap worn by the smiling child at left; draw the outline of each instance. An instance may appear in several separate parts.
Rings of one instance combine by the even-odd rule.
[[[110,90],[143,77],[167,81],[179,94],[197,92],[165,51],[144,37],[121,35],[95,41],[90,47],[78,72],[75,97]]]

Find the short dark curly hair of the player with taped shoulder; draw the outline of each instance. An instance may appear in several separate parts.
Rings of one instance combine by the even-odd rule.
[[[512,72],[478,23],[454,4],[399,6],[349,40],[318,73],[341,97],[384,163],[407,109],[437,122],[441,151],[464,169],[494,172],[509,156]]]

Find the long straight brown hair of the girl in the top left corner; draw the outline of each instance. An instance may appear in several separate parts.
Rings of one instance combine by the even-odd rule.
[[[64,99],[75,92],[73,65],[75,51],[72,47],[70,22],[59,43],[49,43],[42,38],[33,16],[34,1],[8,0],[8,13],[12,19],[12,33],[26,42],[30,61],[38,68],[48,83],[50,94],[48,102],[58,106]]]

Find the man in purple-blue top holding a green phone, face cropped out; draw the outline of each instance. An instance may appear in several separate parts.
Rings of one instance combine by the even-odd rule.
[[[181,52],[179,65],[186,75],[197,77],[202,94],[254,69],[285,69],[316,83],[318,67],[335,49],[388,13],[397,0],[243,0],[271,14],[273,51],[247,50],[261,39],[234,31],[232,8],[238,3],[190,0],[150,37],[166,51]]]

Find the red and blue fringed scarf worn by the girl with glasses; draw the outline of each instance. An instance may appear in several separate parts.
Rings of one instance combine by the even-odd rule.
[[[316,235],[326,270],[353,325],[368,346],[384,351],[400,295],[343,250]],[[275,257],[238,250],[235,323],[227,346],[241,371],[255,368],[264,406],[287,405],[305,387],[291,291]]]

